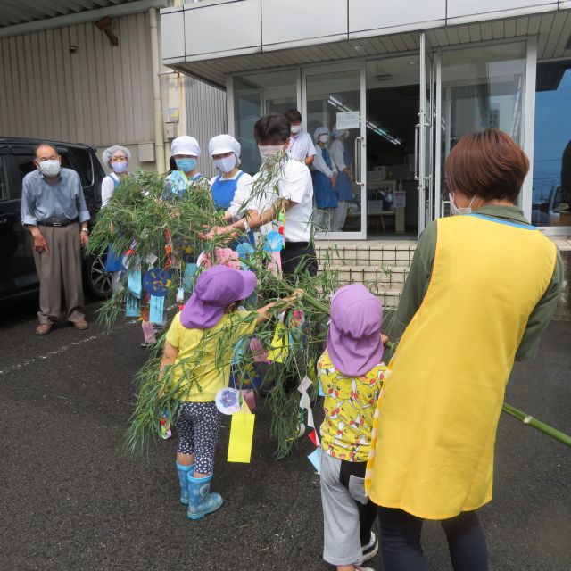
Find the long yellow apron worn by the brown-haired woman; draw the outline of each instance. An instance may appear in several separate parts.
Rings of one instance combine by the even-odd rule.
[[[533,227],[437,221],[430,284],[377,402],[366,476],[377,505],[445,519],[492,500],[505,387],[556,256]]]

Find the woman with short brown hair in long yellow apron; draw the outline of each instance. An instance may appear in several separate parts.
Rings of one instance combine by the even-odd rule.
[[[497,129],[460,139],[446,176],[464,216],[418,241],[368,460],[385,571],[426,569],[424,519],[441,520],[455,571],[488,568],[476,509],[492,500],[504,391],[514,360],[534,356],[562,282],[555,245],[514,205],[528,167]]]

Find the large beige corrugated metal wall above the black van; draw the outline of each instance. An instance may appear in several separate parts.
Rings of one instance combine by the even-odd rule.
[[[0,136],[153,142],[148,13],[114,18],[113,32],[117,47],[92,22],[0,38]]]

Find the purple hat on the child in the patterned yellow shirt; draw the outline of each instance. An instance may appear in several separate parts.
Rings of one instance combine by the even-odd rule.
[[[360,284],[345,285],[331,298],[327,352],[335,368],[360,377],[381,362],[383,304]]]

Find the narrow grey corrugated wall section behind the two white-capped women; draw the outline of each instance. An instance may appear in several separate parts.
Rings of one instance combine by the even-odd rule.
[[[198,139],[203,152],[199,170],[213,177],[217,171],[208,156],[208,142],[215,135],[228,133],[226,91],[189,77],[185,79],[185,89],[186,133]]]

